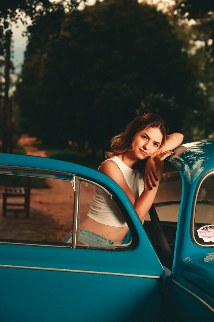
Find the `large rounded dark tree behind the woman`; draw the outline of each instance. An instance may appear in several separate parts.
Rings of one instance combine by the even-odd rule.
[[[154,7],[105,0],[76,15],[50,12],[29,31],[17,100],[22,126],[44,143],[108,149],[136,110],[158,112],[170,131],[197,122],[206,100],[197,61]]]

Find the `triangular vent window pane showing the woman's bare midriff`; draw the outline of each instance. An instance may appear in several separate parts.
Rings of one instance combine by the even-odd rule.
[[[81,180],[80,185],[78,224],[80,230],[77,247],[86,244],[100,248],[124,246],[129,243],[131,237],[130,232],[127,234],[129,229],[124,215],[111,196],[101,186],[93,183]],[[121,231],[121,228],[123,232],[119,232],[120,240],[118,238],[116,240],[114,236],[118,235],[118,230]]]

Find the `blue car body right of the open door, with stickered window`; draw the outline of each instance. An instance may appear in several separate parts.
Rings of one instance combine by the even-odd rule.
[[[197,142],[190,146],[183,159],[175,160],[183,172],[183,192],[173,271],[163,302],[164,321],[214,318],[213,159],[207,157],[206,142],[203,149]]]

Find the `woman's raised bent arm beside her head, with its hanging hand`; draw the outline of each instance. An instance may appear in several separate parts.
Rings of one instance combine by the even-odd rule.
[[[155,154],[148,158],[144,174],[144,190],[155,187],[155,185],[157,185],[157,181],[160,179],[156,171],[155,158],[158,156],[162,157],[163,153],[166,151],[170,151],[175,149],[175,147],[178,147],[182,143],[183,139],[184,136],[181,133],[173,133],[168,135],[165,143],[157,150]],[[165,158],[167,156],[165,156]]]

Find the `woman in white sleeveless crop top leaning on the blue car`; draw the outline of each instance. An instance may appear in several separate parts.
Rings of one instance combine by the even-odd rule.
[[[136,117],[123,133],[113,137],[111,152],[106,153],[106,160],[98,170],[121,186],[141,222],[157,193],[164,159],[172,155],[182,141],[180,133],[167,136],[165,122],[153,113]],[[144,184],[143,160],[146,161]],[[98,189],[80,227],[79,239],[93,245],[121,244],[129,231],[113,201]]]

